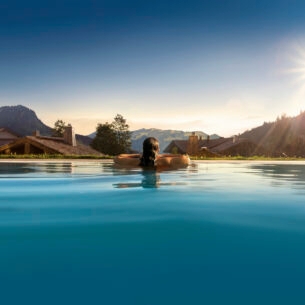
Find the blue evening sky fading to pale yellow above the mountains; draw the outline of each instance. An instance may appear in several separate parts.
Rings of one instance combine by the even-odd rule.
[[[0,0],[0,106],[80,134],[231,136],[305,110],[303,0]]]

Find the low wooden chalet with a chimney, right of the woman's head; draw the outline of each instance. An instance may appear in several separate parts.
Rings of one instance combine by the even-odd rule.
[[[164,150],[165,153],[188,154],[190,156],[251,156],[263,154],[262,149],[248,139],[237,136],[218,139],[202,139],[195,133],[188,140],[174,140]]]

